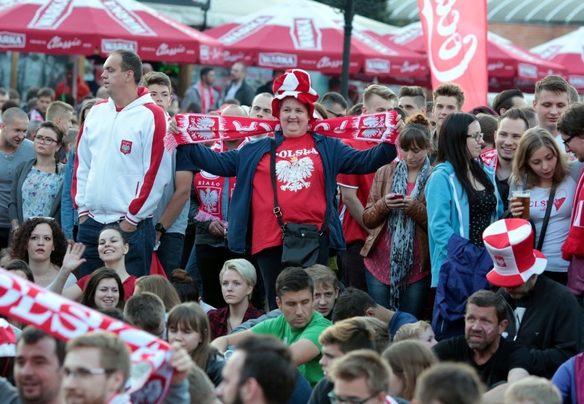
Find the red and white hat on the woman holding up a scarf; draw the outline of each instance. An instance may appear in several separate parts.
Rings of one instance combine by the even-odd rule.
[[[308,107],[308,120],[315,119],[315,102],[319,95],[311,86],[311,75],[302,69],[289,69],[272,84],[273,99],[271,100],[271,115],[280,118],[280,101],[286,97],[294,97]]]

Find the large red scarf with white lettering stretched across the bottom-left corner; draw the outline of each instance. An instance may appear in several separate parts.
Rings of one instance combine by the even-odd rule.
[[[91,331],[116,334],[132,352],[132,376],[125,394],[132,394],[134,404],[162,404],[164,401],[173,375],[167,363],[171,352],[169,344],[154,335],[3,269],[0,269],[0,313],[64,341]]]

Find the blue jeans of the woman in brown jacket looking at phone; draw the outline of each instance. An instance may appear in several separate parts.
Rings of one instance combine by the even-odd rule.
[[[391,286],[380,282],[369,271],[365,273],[365,279],[367,280],[369,296],[371,296],[378,305],[387,309],[394,309],[394,307],[391,306],[391,299],[389,298]],[[430,293],[431,281],[432,277],[426,276],[425,278],[408,285],[408,287],[406,287],[406,292],[400,296],[398,307],[395,308],[410,313],[415,318],[424,318],[424,308],[426,307],[426,301],[428,300],[428,294]]]

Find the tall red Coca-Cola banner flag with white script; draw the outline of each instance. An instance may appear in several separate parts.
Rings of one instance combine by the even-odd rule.
[[[487,105],[487,1],[418,0],[432,86],[454,82],[463,110]]]

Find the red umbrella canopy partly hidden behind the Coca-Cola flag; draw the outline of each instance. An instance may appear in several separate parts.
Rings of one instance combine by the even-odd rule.
[[[426,54],[422,23],[406,25],[395,34],[388,35],[387,38],[391,43]],[[546,75],[562,75],[565,72],[559,64],[543,60],[502,36],[489,32],[487,40],[489,78],[518,78],[536,82]]]

